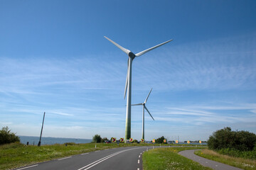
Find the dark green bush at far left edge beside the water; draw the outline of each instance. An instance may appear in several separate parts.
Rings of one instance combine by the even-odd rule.
[[[9,144],[12,142],[20,142],[19,137],[14,132],[9,130],[8,126],[0,130],[0,145]]]

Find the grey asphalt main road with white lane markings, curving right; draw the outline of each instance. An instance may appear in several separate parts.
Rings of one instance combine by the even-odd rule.
[[[152,147],[121,147],[73,155],[42,162],[16,170],[100,170],[100,169],[142,169],[142,153]]]

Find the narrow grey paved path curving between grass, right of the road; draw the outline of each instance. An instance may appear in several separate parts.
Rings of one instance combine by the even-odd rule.
[[[209,159],[205,159],[203,157],[198,157],[194,152],[198,149],[194,150],[184,150],[181,152],[178,152],[178,154],[181,154],[183,157],[186,157],[188,159],[192,159],[194,162],[198,162],[199,164],[203,166],[210,167],[211,169],[218,169],[218,170],[242,170],[234,166],[230,166],[227,164],[223,164],[220,162],[215,162]]]

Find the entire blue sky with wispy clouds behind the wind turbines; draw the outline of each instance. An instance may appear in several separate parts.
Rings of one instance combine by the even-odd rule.
[[[145,140],[256,133],[256,1],[0,0],[0,128],[16,135],[124,137],[127,55]],[[142,137],[142,106],[132,106]]]

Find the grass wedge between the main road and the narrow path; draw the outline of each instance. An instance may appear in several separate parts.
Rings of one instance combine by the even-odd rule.
[[[206,147],[162,147],[151,149],[142,155],[143,169],[210,169],[178,154],[182,150],[202,148]]]

